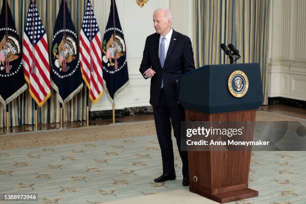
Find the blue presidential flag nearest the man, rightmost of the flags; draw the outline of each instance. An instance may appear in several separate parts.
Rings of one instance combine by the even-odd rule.
[[[110,12],[102,41],[103,80],[114,103],[114,96],[128,84],[126,46],[115,0]]]

